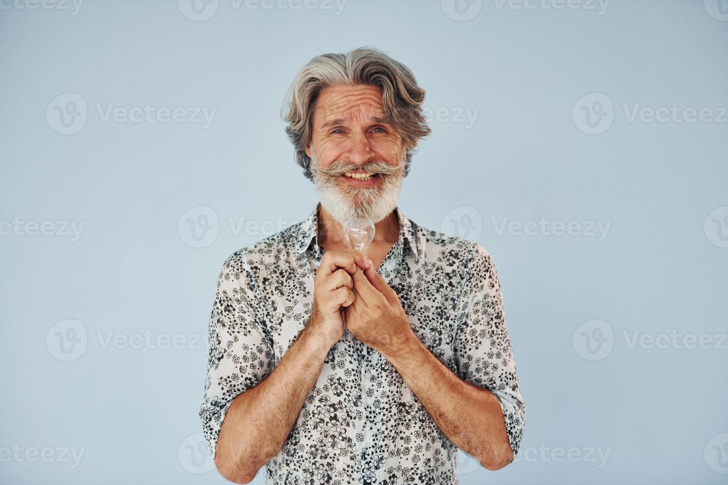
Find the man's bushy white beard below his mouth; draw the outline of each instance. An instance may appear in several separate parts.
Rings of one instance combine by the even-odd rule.
[[[405,156],[406,153],[400,167],[403,167]],[[341,188],[337,177],[320,176],[317,171],[316,152],[313,150],[311,163],[312,177],[321,206],[337,223],[344,225],[352,217],[379,223],[397,207],[402,192],[403,170],[393,175],[378,175],[384,178],[381,186]]]

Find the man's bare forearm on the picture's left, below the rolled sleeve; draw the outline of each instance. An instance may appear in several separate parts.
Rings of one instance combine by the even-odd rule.
[[[326,345],[306,326],[273,372],[234,398],[215,452],[221,475],[247,484],[280,451],[321,373]]]

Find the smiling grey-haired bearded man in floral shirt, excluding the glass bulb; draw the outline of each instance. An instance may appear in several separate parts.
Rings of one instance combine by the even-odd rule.
[[[490,255],[397,207],[424,90],[378,49],[314,57],[286,129],[320,203],[234,252],[218,278],[199,415],[247,484],[457,484],[462,449],[513,460],[524,406]],[[342,226],[366,217],[367,254]]]

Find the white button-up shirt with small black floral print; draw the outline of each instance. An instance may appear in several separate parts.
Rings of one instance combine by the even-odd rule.
[[[325,253],[317,242],[319,206],[223,264],[199,410],[213,457],[232,400],[272,372],[309,320]],[[515,456],[524,406],[491,257],[477,242],[395,212],[399,239],[379,274],[430,352],[496,396]],[[451,485],[459,483],[456,452],[394,366],[344,329],[285,444],[261,472],[269,485]]]

